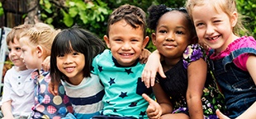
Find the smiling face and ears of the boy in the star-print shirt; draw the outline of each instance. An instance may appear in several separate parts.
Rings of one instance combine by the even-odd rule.
[[[110,26],[109,37],[104,36],[107,47],[121,66],[130,66],[140,57],[142,48],[148,42],[140,26],[133,28],[126,21],[117,21]]]

